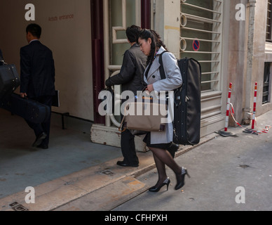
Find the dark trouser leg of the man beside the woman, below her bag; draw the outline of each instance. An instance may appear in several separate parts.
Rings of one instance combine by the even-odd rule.
[[[135,136],[130,133],[128,129],[121,134],[121,150],[124,162],[130,165],[139,164],[139,159],[135,150]]]

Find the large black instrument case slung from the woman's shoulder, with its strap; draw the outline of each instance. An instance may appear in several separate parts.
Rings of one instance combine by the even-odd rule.
[[[161,79],[166,78],[163,53],[159,59]],[[184,146],[194,146],[200,142],[201,66],[193,58],[178,59],[177,63],[182,73],[183,84],[174,90],[173,142]]]

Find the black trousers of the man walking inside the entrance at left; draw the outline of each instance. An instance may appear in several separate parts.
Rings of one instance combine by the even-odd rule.
[[[38,101],[39,103],[42,103],[44,105],[48,105],[51,109],[52,106],[52,98],[53,96],[41,96],[39,98],[29,98],[34,101]],[[33,122],[29,122],[28,120],[25,120],[29,127],[31,127],[34,130],[34,133],[36,137],[38,137],[41,133],[46,133],[47,137],[43,140],[41,143],[42,145],[48,145],[49,143],[49,136],[50,136],[50,122],[51,122],[51,112],[50,116],[48,117],[48,120],[43,123],[35,124]]]

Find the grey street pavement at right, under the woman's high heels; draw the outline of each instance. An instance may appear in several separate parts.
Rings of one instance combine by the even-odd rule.
[[[257,120],[257,129],[272,124],[272,112]],[[168,169],[171,179],[159,193],[144,192],[116,207],[115,211],[189,211],[189,210],[272,210],[272,129],[268,134],[245,134],[240,127],[229,131],[237,137],[218,136],[179,156],[180,166],[188,169],[182,191],[174,191],[175,174]],[[157,181],[156,169],[137,178],[149,186]],[[245,204],[240,189],[245,189]]]

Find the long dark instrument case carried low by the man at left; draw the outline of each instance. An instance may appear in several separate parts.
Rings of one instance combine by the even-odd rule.
[[[43,105],[27,98],[21,98],[18,94],[11,94],[8,98],[0,101],[0,107],[34,123],[48,121],[51,113],[48,105]]]

